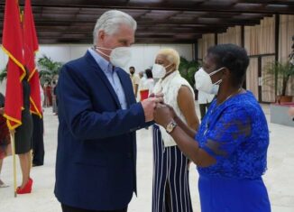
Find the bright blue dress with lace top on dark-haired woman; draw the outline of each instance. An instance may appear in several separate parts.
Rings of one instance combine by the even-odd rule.
[[[262,181],[266,171],[269,130],[250,91],[217,105],[212,102],[195,137],[216,159],[198,167],[202,212],[270,212]]]

